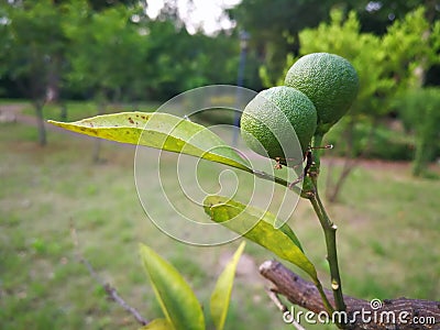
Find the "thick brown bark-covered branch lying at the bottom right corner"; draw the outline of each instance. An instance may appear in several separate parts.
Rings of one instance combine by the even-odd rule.
[[[315,285],[302,279],[283,264],[276,261],[266,261],[260,266],[260,273],[273,284],[272,292],[285,296],[294,305],[317,315],[326,312]],[[333,302],[332,292],[326,289],[326,295]],[[440,301],[397,298],[373,302],[349,296],[344,296],[344,301],[346,322],[343,329],[440,329]],[[293,317],[295,318],[295,316]],[[336,320],[340,320],[338,314]]]

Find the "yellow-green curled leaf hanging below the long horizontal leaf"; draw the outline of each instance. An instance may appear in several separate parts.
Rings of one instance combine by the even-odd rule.
[[[204,205],[213,221],[297,265],[318,283],[316,268],[297,244],[298,239],[287,224],[275,228],[275,216],[222,196],[208,196]]]

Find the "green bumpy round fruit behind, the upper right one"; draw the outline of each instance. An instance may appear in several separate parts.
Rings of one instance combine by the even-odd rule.
[[[287,72],[284,82],[314,102],[318,133],[326,133],[346,113],[359,90],[359,77],[351,63],[329,53],[302,56]]]

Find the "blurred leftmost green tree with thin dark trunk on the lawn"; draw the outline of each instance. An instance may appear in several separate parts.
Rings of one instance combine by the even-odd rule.
[[[41,145],[46,144],[43,106],[55,97],[50,87],[58,79],[66,45],[58,10],[50,0],[0,4],[0,77],[31,100]]]

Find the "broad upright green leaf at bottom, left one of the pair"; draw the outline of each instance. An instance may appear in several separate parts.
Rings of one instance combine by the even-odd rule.
[[[201,306],[178,271],[144,244],[140,253],[166,320],[176,330],[205,329]]]

